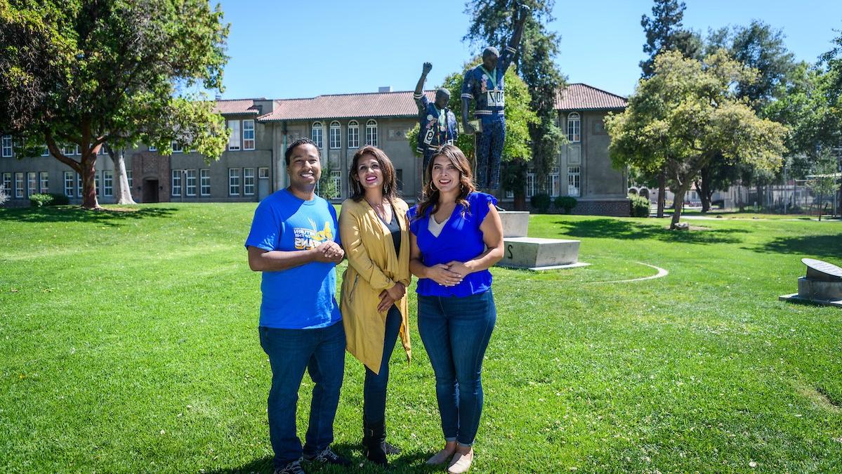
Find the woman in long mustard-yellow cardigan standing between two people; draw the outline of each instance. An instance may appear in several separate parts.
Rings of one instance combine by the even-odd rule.
[[[386,454],[399,452],[386,443],[386,384],[398,334],[407,360],[411,354],[408,206],[397,197],[395,168],[379,148],[360,148],[348,176],[351,197],[342,203],[339,215],[339,234],[348,257],[342,278],[342,322],[348,351],[365,365],[365,456],[385,466]]]

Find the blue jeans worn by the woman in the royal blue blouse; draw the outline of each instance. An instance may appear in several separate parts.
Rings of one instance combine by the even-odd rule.
[[[497,309],[491,290],[478,295],[418,295],[418,333],[435,372],[445,440],[472,445],[482,415],[482,356]]]

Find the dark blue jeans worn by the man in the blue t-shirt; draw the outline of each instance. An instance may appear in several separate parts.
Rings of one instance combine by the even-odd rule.
[[[333,442],[333,418],[345,368],[345,329],[342,322],[328,328],[258,328],[260,345],[269,355],[272,388],[269,390],[269,440],[274,466],[315,455]],[[296,435],[298,388],[304,369],[314,383],[310,424],[302,450]]]

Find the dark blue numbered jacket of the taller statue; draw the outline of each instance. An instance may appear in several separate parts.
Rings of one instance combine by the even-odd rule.
[[[465,78],[462,79],[461,97],[474,100],[474,115],[477,118],[488,118],[494,115],[498,115],[499,118],[504,117],[504,76],[514,59],[515,52],[514,48],[506,46],[493,71],[486,71],[480,64],[465,73]]]

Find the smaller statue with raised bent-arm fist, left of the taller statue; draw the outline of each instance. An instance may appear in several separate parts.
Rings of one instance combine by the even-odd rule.
[[[424,95],[424,82],[427,74],[433,69],[429,62],[424,63],[421,70],[421,77],[415,85],[413,99],[418,105],[418,146],[415,151],[424,157],[421,168],[421,184],[424,184],[424,173],[427,172],[430,158],[438,152],[442,146],[453,145],[459,135],[456,125],[456,115],[447,108],[450,102],[450,91],[445,88],[438,88],[435,91],[435,101],[430,102]]]

